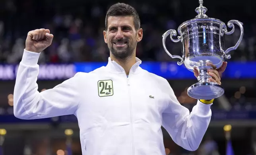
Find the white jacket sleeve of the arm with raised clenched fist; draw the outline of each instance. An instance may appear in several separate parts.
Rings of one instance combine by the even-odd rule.
[[[74,114],[80,101],[77,74],[39,93],[39,55],[24,50],[14,87],[14,115],[19,119],[40,119]]]

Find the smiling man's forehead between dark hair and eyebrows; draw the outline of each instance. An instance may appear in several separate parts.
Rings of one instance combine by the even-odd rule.
[[[134,26],[132,16],[109,16],[108,26]]]

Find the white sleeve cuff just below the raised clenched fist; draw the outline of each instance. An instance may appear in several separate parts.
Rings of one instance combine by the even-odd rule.
[[[38,62],[40,53],[27,51],[24,49],[21,63],[28,66],[35,66]]]

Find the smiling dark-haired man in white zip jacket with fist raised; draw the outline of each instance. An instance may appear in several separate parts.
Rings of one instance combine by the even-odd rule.
[[[77,73],[41,93],[37,60],[53,35],[48,29],[28,33],[14,88],[14,115],[20,119],[76,115],[83,155],[165,155],[161,125],[176,144],[196,150],[208,128],[213,100],[198,101],[190,113],[166,79],[140,68],[135,53],[143,32],[132,6],[114,4],[105,23],[107,66]],[[211,81],[220,83],[218,71],[209,73]]]

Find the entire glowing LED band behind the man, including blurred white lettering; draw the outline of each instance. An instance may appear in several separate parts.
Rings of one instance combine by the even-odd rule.
[[[77,72],[91,72],[107,62],[81,62],[74,64],[42,64],[39,69],[39,80],[68,79]],[[195,79],[194,74],[184,65],[178,66],[176,62],[148,62],[140,65],[143,69],[164,77],[165,79]],[[1,64],[0,80],[16,79],[18,65]],[[256,62],[228,62],[222,78],[251,79],[256,78]]]

